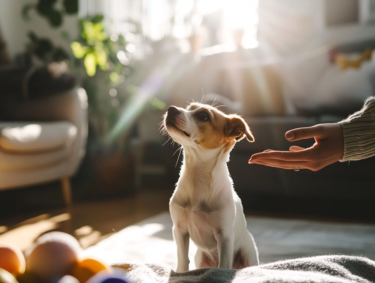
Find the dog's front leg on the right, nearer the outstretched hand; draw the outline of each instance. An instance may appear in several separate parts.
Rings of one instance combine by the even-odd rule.
[[[234,234],[218,233],[216,236],[219,268],[231,269],[233,263]]]

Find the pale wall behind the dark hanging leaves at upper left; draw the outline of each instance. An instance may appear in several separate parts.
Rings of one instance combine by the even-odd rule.
[[[78,16],[65,16],[62,27],[55,29],[36,11],[30,11],[31,20],[25,21],[21,11],[28,3],[36,3],[36,0],[0,0],[0,28],[11,58],[25,50],[25,44],[28,42],[27,32],[30,30],[39,37],[51,39],[56,45],[69,48],[69,42],[63,39],[62,32],[66,30],[72,39],[77,38]]]

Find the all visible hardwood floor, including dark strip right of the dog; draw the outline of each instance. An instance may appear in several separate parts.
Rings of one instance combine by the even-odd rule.
[[[73,235],[83,248],[107,238],[125,227],[142,221],[160,212],[168,211],[170,189],[145,189],[129,196],[96,198],[91,201],[75,201],[71,207],[62,206],[60,189],[33,188],[34,191],[20,190],[0,192],[0,242],[7,242],[26,250],[38,236],[50,231],[61,231]],[[28,200],[31,195],[35,199]],[[58,200],[60,198],[60,200]],[[23,200],[23,202],[21,201]],[[38,203],[39,206],[27,206]],[[48,206],[46,206],[48,203]],[[17,207],[15,207],[17,204]],[[41,205],[43,204],[43,205]],[[35,208],[39,207],[39,208]],[[334,222],[369,222],[322,216],[298,216],[270,211],[245,211],[247,215],[282,217],[290,219],[318,219]]]

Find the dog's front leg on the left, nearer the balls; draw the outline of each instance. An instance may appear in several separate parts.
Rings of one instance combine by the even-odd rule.
[[[177,269],[176,272],[189,270],[189,232],[183,231],[173,225],[173,237],[177,244]]]

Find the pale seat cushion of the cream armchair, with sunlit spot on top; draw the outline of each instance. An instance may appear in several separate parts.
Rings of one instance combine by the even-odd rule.
[[[68,121],[0,122],[0,150],[33,153],[70,145],[77,127]]]

